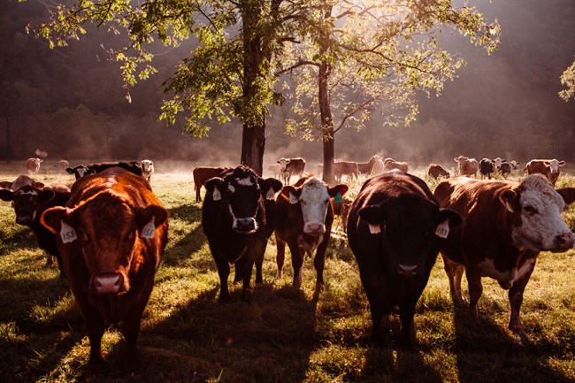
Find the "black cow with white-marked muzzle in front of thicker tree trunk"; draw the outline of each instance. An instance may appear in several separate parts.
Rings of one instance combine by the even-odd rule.
[[[203,233],[218,267],[219,301],[229,301],[227,277],[230,264],[235,264],[236,275],[239,273],[243,281],[241,300],[249,302],[253,265],[263,261],[267,241],[272,235],[273,219],[266,210],[266,201],[274,200],[282,184],[274,178],[257,176],[245,165],[224,172],[222,176],[213,177],[204,184]]]

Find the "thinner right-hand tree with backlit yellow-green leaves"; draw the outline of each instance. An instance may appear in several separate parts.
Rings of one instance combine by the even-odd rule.
[[[498,43],[496,22],[487,24],[475,9],[450,1],[318,0],[313,6],[307,43],[295,46],[294,59],[280,73],[299,72],[293,98],[300,118],[289,126],[309,139],[319,133],[326,182],[334,180],[334,134],[342,127],[361,129],[379,108],[387,124],[409,124],[418,111],[416,90],[439,95],[453,79],[464,60],[440,48],[442,27],[470,35],[488,52]]]

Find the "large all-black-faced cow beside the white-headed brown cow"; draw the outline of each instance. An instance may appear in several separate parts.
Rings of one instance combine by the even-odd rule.
[[[395,170],[364,183],[349,212],[348,239],[370,303],[373,341],[385,342],[381,320],[399,306],[399,341],[410,346],[415,307],[441,241],[460,223],[411,174]]]

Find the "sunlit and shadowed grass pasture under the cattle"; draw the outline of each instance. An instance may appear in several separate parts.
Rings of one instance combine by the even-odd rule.
[[[56,164],[43,166],[49,171],[41,171],[37,180],[73,182]],[[540,254],[522,306],[527,341],[507,329],[507,292],[495,280],[483,280],[479,321],[469,318],[465,308],[454,307],[438,257],[416,311],[415,350],[397,348],[397,315],[389,321],[389,346],[374,348],[357,264],[341,234],[333,237],[327,251],[326,287],[319,295],[314,295],[309,258],[301,290],[291,287],[289,255],[283,278],[274,280],[272,235],[265,253],[265,283],[255,287],[253,303],[239,301],[242,288],[231,283],[232,272],[231,303],[219,304],[219,278],[201,227],[201,203],[194,203],[193,167],[179,164],[165,172],[167,165],[159,163],[151,179],[171,217],[169,243],[142,319],[141,370],[135,376],[122,375],[124,342],[119,328],[111,326],[103,336],[106,369],[98,380],[575,381],[575,250]],[[13,180],[23,171],[20,163],[2,164],[0,180]],[[423,169],[414,173],[423,177]],[[433,189],[436,182],[426,181]],[[350,195],[357,195],[362,182],[349,184]],[[564,174],[557,186],[575,187],[575,177]],[[571,228],[573,216],[572,209],[565,215]],[[45,268],[44,263],[33,235],[15,223],[10,203],[0,201],[0,382],[86,380],[89,347],[80,313],[57,268]],[[463,287],[466,294],[465,280]]]

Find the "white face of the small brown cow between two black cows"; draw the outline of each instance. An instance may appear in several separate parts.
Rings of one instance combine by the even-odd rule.
[[[316,177],[305,181],[300,202],[303,214],[303,233],[310,235],[326,233],[326,214],[329,203],[326,184]]]

